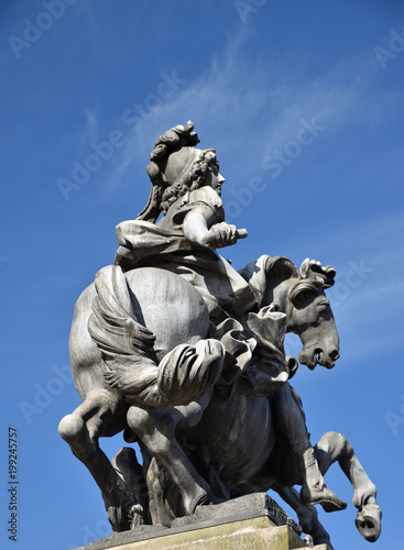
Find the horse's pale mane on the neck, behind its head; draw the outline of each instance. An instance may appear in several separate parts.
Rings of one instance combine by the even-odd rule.
[[[271,278],[273,279],[271,287],[274,288],[287,278],[299,276],[296,265],[291,260],[285,256],[270,256],[267,254],[250,262],[239,273],[250,285],[259,307],[262,306]]]

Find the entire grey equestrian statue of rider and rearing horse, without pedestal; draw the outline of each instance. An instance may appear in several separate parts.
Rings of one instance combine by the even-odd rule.
[[[197,506],[272,488],[315,543],[330,546],[314,505],[346,507],[323,479],[338,461],[357,527],[376,540],[375,487],[340,433],[312,447],[288,382],[298,362],[283,346],[295,332],[302,364],[334,367],[339,341],[325,290],[336,272],[269,255],[237,272],[223,260],[217,249],[247,231],[226,222],[216,152],[197,148],[193,130],[188,122],[157,140],[149,202],[118,226],[114,265],[76,304],[69,346],[83,404],[59,433],[101,490],[113,531],[170,527]],[[132,448],[112,464],[99,448],[122,430],[142,465]]]

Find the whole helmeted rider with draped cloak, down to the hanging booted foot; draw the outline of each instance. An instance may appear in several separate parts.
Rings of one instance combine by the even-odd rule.
[[[284,315],[272,311],[259,312],[254,294],[241,275],[231,267],[216,249],[234,244],[247,237],[245,230],[226,223],[220,198],[225,182],[219,174],[215,150],[198,150],[199,142],[193,124],[175,127],[156,142],[148,166],[152,180],[149,202],[135,221],[124,221],[117,227],[120,248],[116,264],[123,271],[139,266],[170,270],[186,278],[204,298],[209,317],[216,327],[232,320],[232,328],[248,329],[247,314],[260,318],[262,333],[256,339],[266,349],[277,373],[266,380],[266,395],[272,395],[274,422],[286,446],[293,453],[302,474],[302,501],[321,504],[327,512],[342,509],[339,499],[325,484],[309,442],[304,413],[297,394],[287,383],[288,369],[284,359]],[[157,221],[159,216],[163,217]],[[265,323],[276,326],[280,341],[265,341]],[[258,323],[254,323],[256,330]],[[276,333],[271,331],[271,333]],[[251,333],[250,333],[251,336]],[[256,341],[243,342],[251,359]],[[240,342],[239,342],[240,343]],[[230,353],[233,350],[228,349]],[[239,358],[237,358],[239,362]],[[240,360],[241,361],[241,360]],[[249,383],[249,367],[239,365],[239,376]]]

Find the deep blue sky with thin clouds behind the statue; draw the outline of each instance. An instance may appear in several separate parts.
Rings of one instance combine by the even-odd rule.
[[[237,268],[267,253],[337,270],[341,359],[332,371],[302,366],[293,384],[313,442],[343,433],[379,488],[373,548],[398,550],[402,2],[45,4],[0,7],[1,547],[65,550],[108,535],[99,491],[57,433],[80,403],[68,375],[73,308],[113,261],[116,224],[146,202],[154,141],[192,119],[201,146],[217,150],[229,221],[249,230],[223,255]],[[297,354],[294,339],[287,345]],[[6,532],[10,426],[17,543]],[[122,444],[102,440],[109,455]],[[349,502],[319,510],[335,548],[369,548],[338,465],[327,480]]]

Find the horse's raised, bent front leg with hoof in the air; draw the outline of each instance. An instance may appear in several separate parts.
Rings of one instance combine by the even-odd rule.
[[[353,486],[353,506],[358,508],[356,526],[369,542],[378,540],[382,512],[376,503],[376,488],[353,452],[348,439],[336,431],[325,433],[315,446],[315,455],[325,474],[338,461],[342,472]]]

